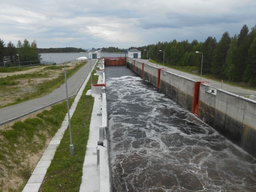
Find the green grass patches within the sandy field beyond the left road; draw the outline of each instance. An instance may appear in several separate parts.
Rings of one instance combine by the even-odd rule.
[[[67,69],[66,70],[67,79],[69,77],[71,77],[72,75],[74,75],[77,72],[77,70],[79,70],[81,67],[83,67],[84,64],[86,64],[86,63],[87,63],[87,61],[86,62],[82,62],[81,64],[76,65],[76,67],[73,68],[73,69]],[[63,68],[63,67],[62,66],[50,66],[48,69],[50,69],[50,68],[59,69],[59,68]],[[26,73],[26,74],[21,74],[21,75],[7,76],[5,78],[0,78],[0,85],[1,85],[1,82],[2,82],[2,84],[3,84],[3,82],[6,82],[6,84],[18,84],[18,82],[14,81],[14,80],[18,79],[18,78],[21,78],[21,77],[23,79],[27,78],[28,79],[28,83],[29,83],[30,82],[29,78],[32,78],[32,77],[33,78],[36,78],[36,77],[47,77],[47,76],[48,76],[48,73],[41,73],[41,72],[35,72],[35,73],[32,73],[32,74]],[[59,82],[59,80],[60,80],[60,82]],[[60,85],[63,84],[63,83],[65,83],[64,72],[60,76],[55,78],[55,79],[52,79],[52,80],[45,81],[43,83],[37,84],[36,87],[35,87],[36,90],[34,92],[28,92],[25,95],[23,95],[22,98],[17,98],[15,102],[9,103],[9,104],[4,105],[4,106],[2,106],[0,108],[16,105],[18,103],[21,103],[21,102],[24,102],[24,101],[27,101],[27,100],[30,100],[30,99],[36,99],[36,98],[41,97],[41,96],[43,96],[43,95],[45,95],[47,93],[52,92],[54,89],[60,87]],[[2,86],[2,88],[0,87],[0,90],[1,89],[4,89],[4,86]]]

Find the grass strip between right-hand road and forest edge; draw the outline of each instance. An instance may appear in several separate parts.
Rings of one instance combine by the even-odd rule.
[[[152,59],[148,60],[148,62],[155,63],[155,64],[157,63],[156,61],[154,61]],[[157,64],[163,66],[163,63],[157,63]],[[166,66],[168,68],[176,69],[176,70],[179,70],[179,71],[182,71],[182,72],[186,72],[186,73],[189,73],[189,74],[193,74],[193,75],[196,75],[196,76],[200,76],[200,71],[198,71],[197,67],[174,66],[174,65],[169,65],[169,64],[166,64],[166,63],[164,64],[164,66]],[[242,87],[244,89],[250,89],[250,90],[256,91],[256,87],[252,87],[248,84],[245,84],[244,82],[240,82],[240,83],[233,82],[233,81],[230,81],[230,80],[227,80],[227,79],[221,79],[221,78],[219,78],[217,76],[214,76],[212,74],[203,74],[202,77],[204,77],[206,79],[211,79],[211,77],[212,77],[212,80],[214,80],[214,81],[221,82],[221,80],[223,80],[223,83],[225,83],[225,84],[229,84],[229,85],[232,85],[232,86]]]

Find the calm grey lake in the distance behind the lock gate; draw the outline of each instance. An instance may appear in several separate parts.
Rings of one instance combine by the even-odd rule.
[[[51,60],[57,64],[67,62],[68,60],[77,59],[79,57],[89,57],[89,53],[50,53]],[[100,53],[100,57],[124,57],[124,54],[120,53]],[[41,53],[43,61],[50,62],[49,53]]]

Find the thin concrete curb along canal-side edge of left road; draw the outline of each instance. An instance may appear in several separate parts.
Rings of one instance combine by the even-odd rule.
[[[94,65],[95,65],[95,64],[94,64]],[[92,67],[92,68],[93,68],[93,67]],[[89,71],[89,73],[87,74],[87,76],[84,78],[84,81],[85,81],[85,79],[88,77],[89,74],[90,74],[90,71]],[[76,93],[75,93],[74,95],[69,96],[68,99],[70,99],[70,98],[72,98],[72,97],[74,97],[74,96],[77,95],[77,93],[78,93],[79,90],[81,89],[81,87],[82,87],[84,81],[81,83],[81,85],[80,85],[79,88],[77,89]],[[51,107],[52,105],[55,105],[55,104],[57,104],[57,103],[61,103],[62,101],[65,101],[65,100],[67,100],[67,98],[62,99],[62,100],[59,100],[59,101],[55,101],[55,102],[53,102],[53,103],[51,103],[51,104],[49,104],[49,105],[46,105],[46,106],[44,106],[44,107],[38,108],[38,109],[33,110],[33,111],[30,111],[30,112],[28,112],[28,113],[24,113],[23,115],[17,116],[17,117],[15,117],[15,118],[12,118],[12,119],[9,119],[9,120],[7,120],[7,121],[4,121],[4,122],[0,123],[0,126],[2,126],[2,125],[4,125],[4,124],[11,123],[11,122],[13,122],[13,121],[15,121],[15,120],[18,120],[18,119],[22,118],[22,117],[26,117],[26,116],[28,116],[28,115],[31,115],[31,114],[36,113],[36,112],[38,112],[38,111],[41,111],[41,110],[43,110],[43,109],[45,109],[45,108]]]

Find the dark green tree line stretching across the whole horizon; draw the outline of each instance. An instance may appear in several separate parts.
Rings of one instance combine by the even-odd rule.
[[[141,51],[141,59],[148,58],[156,62],[164,61],[167,65],[196,67],[201,70],[203,53],[203,74],[212,74],[219,78],[231,81],[244,81],[250,85],[256,85],[256,25],[249,30],[245,24],[238,35],[230,37],[228,31],[224,32],[220,41],[209,36],[204,42],[194,39],[178,42],[176,39],[170,42],[158,42],[141,47],[129,47],[119,49],[118,47],[102,47],[101,52],[125,52],[136,48]],[[145,51],[147,50],[147,51]],[[164,51],[160,52],[159,50]],[[0,65],[4,63],[17,62],[19,53],[20,61],[40,60],[40,53],[44,52],[85,52],[82,48],[37,48],[36,40],[29,44],[25,39],[23,44],[18,41],[17,48],[10,41],[6,46],[0,39]]]

